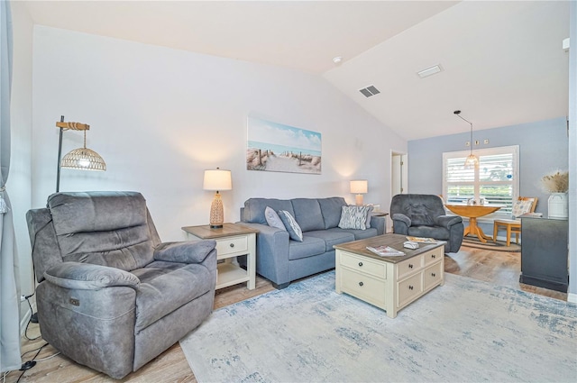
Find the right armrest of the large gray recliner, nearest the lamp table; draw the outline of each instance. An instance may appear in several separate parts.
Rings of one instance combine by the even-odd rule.
[[[154,249],[154,260],[202,263],[215,247],[215,240],[162,242]]]

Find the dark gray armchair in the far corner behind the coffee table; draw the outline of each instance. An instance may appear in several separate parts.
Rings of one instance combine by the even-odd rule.
[[[463,218],[446,215],[440,196],[398,194],[390,201],[393,232],[446,241],[444,252],[457,252],[463,242]]]

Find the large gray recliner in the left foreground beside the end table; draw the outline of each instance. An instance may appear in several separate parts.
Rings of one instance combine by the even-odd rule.
[[[215,241],[160,242],[134,192],[57,193],[26,214],[42,338],[123,378],[212,312]]]

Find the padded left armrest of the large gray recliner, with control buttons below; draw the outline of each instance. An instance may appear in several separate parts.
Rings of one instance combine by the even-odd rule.
[[[136,288],[141,283],[138,277],[128,271],[80,262],[54,265],[44,272],[44,278],[56,286],[78,290],[115,286]]]

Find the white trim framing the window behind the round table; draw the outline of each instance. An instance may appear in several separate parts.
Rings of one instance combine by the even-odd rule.
[[[502,154],[504,152],[513,153],[513,201],[516,201],[519,195],[519,146],[496,146],[493,148],[475,149],[472,150],[473,154],[476,156],[490,156],[495,154]],[[446,160],[454,158],[466,158],[471,153],[471,150],[459,150],[459,151],[445,151],[443,153],[443,195],[446,195],[447,182],[446,182]],[[479,196],[475,196],[479,198]],[[449,213],[451,214],[451,213]],[[499,211],[479,217],[477,222],[479,223],[492,223],[496,219],[502,219],[503,216],[509,216],[508,213],[500,213]]]

